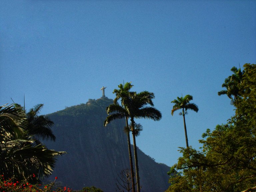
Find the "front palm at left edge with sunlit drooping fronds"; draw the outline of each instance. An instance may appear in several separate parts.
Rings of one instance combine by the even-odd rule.
[[[56,156],[63,153],[36,143],[22,107],[0,106],[0,173],[6,178],[23,179],[33,173],[38,179],[48,177]]]

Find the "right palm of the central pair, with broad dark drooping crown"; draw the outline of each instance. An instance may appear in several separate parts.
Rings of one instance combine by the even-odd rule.
[[[114,101],[121,98],[121,104],[123,109],[125,110],[125,116],[129,117],[131,120],[131,132],[133,136],[133,146],[134,146],[134,160],[135,160],[135,170],[136,170],[136,180],[137,180],[137,191],[140,192],[140,178],[139,178],[139,167],[138,167],[138,157],[137,157],[137,146],[136,146],[136,134],[137,131],[135,129],[135,119],[136,118],[144,118],[144,119],[152,119],[154,121],[158,121],[162,118],[162,114],[156,108],[154,108],[154,104],[152,99],[155,98],[154,93],[148,91],[142,91],[140,93],[130,91],[131,87],[130,83],[126,83],[124,91],[114,90],[114,93],[117,93],[117,97]],[[119,88],[123,87],[122,84],[118,86]],[[150,106],[147,106],[150,105]],[[128,119],[128,118],[127,118]],[[128,127],[128,125],[127,125]]]

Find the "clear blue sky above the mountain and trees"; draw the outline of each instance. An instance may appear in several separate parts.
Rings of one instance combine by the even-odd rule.
[[[185,147],[177,96],[190,94],[198,113],[186,116],[189,145],[234,113],[218,96],[233,66],[256,63],[255,0],[0,1],[0,101],[41,114],[86,103],[130,82],[155,93],[159,122],[144,127],[138,147],[157,162],[177,162]]]

